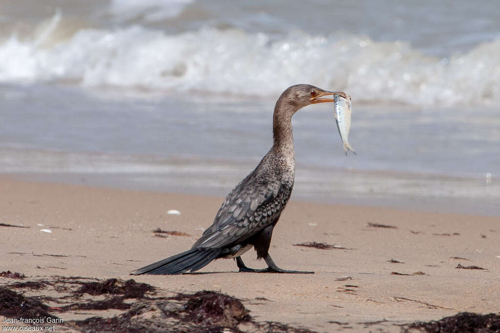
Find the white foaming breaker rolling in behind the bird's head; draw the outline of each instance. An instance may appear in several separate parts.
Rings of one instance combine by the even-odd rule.
[[[403,41],[299,30],[273,39],[238,29],[166,34],[133,25],[81,28],[68,39],[51,41],[60,19],[57,12],[31,39],[11,35],[0,41],[0,81],[257,96],[311,83],[365,102],[500,102],[500,40],[449,58],[426,56]]]

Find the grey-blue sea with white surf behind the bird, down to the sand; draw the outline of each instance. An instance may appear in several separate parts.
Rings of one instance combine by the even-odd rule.
[[[494,1],[2,5],[0,172],[224,195],[311,83],[352,96],[358,155],[299,111],[294,196],[500,215]]]

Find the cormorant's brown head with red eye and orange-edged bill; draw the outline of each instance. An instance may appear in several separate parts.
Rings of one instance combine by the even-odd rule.
[[[330,96],[325,98],[324,96]],[[278,103],[285,103],[294,107],[294,112],[309,104],[333,102],[333,95],[346,98],[341,91],[327,91],[310,84],[295,84],[288,87],[278,99]]]

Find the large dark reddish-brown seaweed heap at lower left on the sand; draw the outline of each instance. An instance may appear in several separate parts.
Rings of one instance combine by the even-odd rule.
[[[88,281],[94,280],[94,281]],[[10,288],[41,290],[51,288],[59,297],[24,297]],[[347,287],[347,285],[345,286]],[[87,296],[92,296],[87,299]],[[105,298],[102,299],[101,297]],[[85,297],[85,299],[83,299]],[[67,299],[71,299],[70,303]],[[127,302],[132,299],[133,302]],[[260,298],[262,301],[268,301]],[[75,302],[76,301],[76,302]],[[49,307],[42,302],[58,303]],[[241,301],[211,291],[159,297],[155,288],[133,280],[97,280],[53,276],[49,280],[15,283],[0,289],[0,315],[7,317],[52,317],[48,312],[123,310],[108,318],[93,316],[84,320],[64,321],[65,328],[78,332],[234,332],[244,323],[245,332],[313,333],[275,322],[255,322]],[[81,313],[80,313],[81,314]]]

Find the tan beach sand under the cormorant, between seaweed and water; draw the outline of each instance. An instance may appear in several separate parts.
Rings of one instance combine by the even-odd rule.
[[[223,199],[24,182],[10,176],[0,177],[0,189],[0,223],[29,227],[0,227],[0,272],[19,272],[29,279],[127,280],[130,271],[189,249]],[[181,214],[168,215],[170,209]],[[156,228],[189,236],[157,237],[151,232]],[[303,242],[348,250],[294,246]],[[221,291],[244,300],[257,321],[318,332],[398,332],[393,324],[500,311],[498,217],[292,200],[274,229],[269,252],[281,268],[315,274],[238,273],[233,260],[217,260],[199,271],[209,274],[133,279],[171,292]],[[265,266],[253,251],[243,260],[252,268]],[[485,270],[458,269],[458,264]],[[8,283],[11,279],[0,278],[0,285]]]

